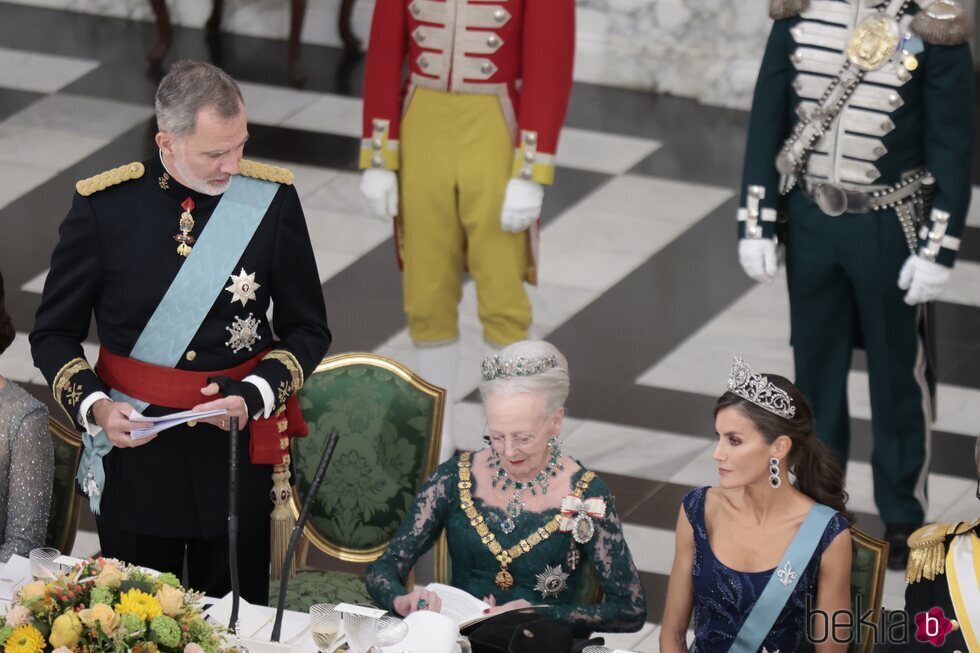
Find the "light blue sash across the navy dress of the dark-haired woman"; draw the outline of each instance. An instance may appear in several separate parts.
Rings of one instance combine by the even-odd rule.
[[[793,594],[800,576],[810,564],[813,552],[820,544],[820,538],[835,513],[833,508],[821,503],[814,504],[810,509],[803,525],[783,554],[779,567],[769,578],[762,595],[735,636],[732,647],[728,649],[729,653],[758,653],[779,613]]]

